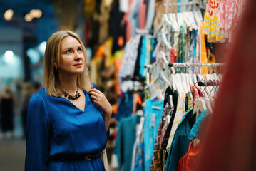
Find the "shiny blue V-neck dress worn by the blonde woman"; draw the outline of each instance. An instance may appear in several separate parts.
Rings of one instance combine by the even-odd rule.
[[[93,160],[47,160],[54,155],[96,155],[106,147],[101,110],[86,95],[84,112],[66,98],[34,93],[28,105],[25,171],[105,170],[100,157]]]

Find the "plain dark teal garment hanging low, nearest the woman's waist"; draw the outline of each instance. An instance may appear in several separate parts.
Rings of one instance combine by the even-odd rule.
[[[133,158],[133,145],[136,139],[136,124],[138,116],[123,118],[118,123],[118,138],[113,153],[118,157],[118,169],[130,171]]]

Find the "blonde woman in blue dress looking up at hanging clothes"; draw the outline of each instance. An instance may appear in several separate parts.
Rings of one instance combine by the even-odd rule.
[[[28,105],[25,170],[105,170],[101,152],[112,108],[91,86],[78,35],[53,33],[43,67],[45,88]]]

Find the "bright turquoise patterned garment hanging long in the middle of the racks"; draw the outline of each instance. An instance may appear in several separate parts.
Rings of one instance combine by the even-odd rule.
[[[144,165],[145,171],[150,170],[153,150],[155,145],[155,138],[158,135],[158,125],[160,124],[161,116],[163,114],[163,101],[149,98],[145,101],[145,129],[144,129]],[[161,109],[152,108],[158,106]]]

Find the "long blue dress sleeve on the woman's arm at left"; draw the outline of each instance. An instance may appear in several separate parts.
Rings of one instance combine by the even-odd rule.
[[[31,96],[26,122],[25,171],[46,170],[49,124],[46,104],[39,93]]]

